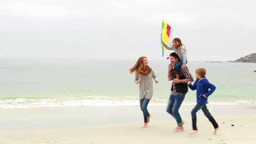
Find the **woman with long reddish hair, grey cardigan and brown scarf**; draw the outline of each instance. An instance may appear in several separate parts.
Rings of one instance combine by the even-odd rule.
[[[135,72],[135,83],[139,84],[140,107],[144,116],[144,125],[147,128],[151,115],[147,110],[147,105],[153,96],[153,80],[158,83],[157,76],[152,68],[149,67],[147,57],[142,56],[136,64],[129,70],[130,73]]]

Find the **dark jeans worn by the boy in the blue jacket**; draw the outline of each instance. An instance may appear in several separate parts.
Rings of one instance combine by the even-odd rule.
[[[212,123],[214,128],[219,128],[218,123],[214,120],[213,116],[211,115],[211,113],[209,112],[209,110],[207,109],[206,104],[197,104],[195,105],[195,107],[192,109],[191,111],[191,116],[192,116],[192,126],[193,126],[193,130],[197,131],[197,112],[202,109],[204,115],[209,119],[209,121]]]

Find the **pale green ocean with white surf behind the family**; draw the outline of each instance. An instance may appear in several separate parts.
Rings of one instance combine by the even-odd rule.
[[[0,109],[31,107],[117,107],[139,105],[139,85],[129,69],[134,60],[0,58]],[[150,105],[167,105],[169,60],[150,60],[159,83]],[[256,64],[189,61],[204,67],[217,89],[209,104],[256,104]],[[184,104],[195,104],[189,90]]]

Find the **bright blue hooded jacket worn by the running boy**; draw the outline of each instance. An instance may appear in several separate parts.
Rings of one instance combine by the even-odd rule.
[[[215,91],[216,86],[209,83],[209,81],[204,77],[203,79],[197,79],[193,85],[189,85],[189,88],[194,91],[197,90],[197,103],[207,104],[208,97]],[[209,91],[210,88],[210,91]],[[205,95],[206,98],[203,96]]]

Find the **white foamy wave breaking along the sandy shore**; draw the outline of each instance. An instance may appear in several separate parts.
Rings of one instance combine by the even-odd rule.
[[[168,99],[153,98],[149,105],[167,105]],[[256,101],[210,102],[212,105],[256,104]],[[184,101],[183,105],[195,105]],[[36,107],[120,107],[139,106],[137,97],[84,96],[73,98],[11,98],[0,99],[0,109]]]

